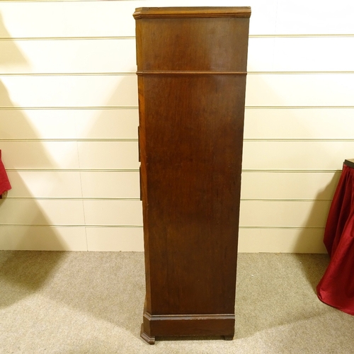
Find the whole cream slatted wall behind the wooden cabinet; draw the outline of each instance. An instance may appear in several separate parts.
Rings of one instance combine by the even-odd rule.
[[[324,252],[354,157],[350,1],[0,1],[0,249],[142,251],[139,6],[251,6],[241,252]]]

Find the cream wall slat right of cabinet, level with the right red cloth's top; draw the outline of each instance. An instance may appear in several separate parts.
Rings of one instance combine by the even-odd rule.
[[[244,142],[243,169],[340,170],[352,159],[354,141]]]

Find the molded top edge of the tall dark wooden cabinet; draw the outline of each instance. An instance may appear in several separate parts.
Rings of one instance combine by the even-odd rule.
[[[203,17],[240,17],[249,18],[251,7],[139,7],[134,18],[203,18]]]

